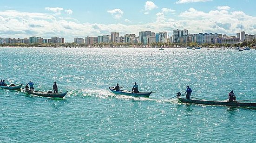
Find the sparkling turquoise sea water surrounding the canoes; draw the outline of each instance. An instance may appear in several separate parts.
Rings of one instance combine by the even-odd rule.
[[[0,89],[0,142],[254,143],[256,109],[186,105],[169,98],[256,99],[256,50],[0,48],[0,79],[64,99]],[[115,95],[116,83],[153,91]]]

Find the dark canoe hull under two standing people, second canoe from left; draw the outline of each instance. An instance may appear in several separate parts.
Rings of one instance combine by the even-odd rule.
[[[24,90],[26,93],[30,95],[37,95],[37,96],[42,96],[42,97],[51,97],[51,98],[63,98],[66,94],[65,93],[47,93],[47,92],[41,92],[41,91],[30,91],[30,90]]]

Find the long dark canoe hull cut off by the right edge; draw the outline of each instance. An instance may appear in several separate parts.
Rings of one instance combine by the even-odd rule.
[[[194,99],[185,99],[177,97],[180,102],[183,103],[192,103],[192,104],[203,104],[203,105],[220,105],[220,106],[236,106],[236,107],[256,107],[256,103],[246,103],[246,102],[229,102],[228,100],[224,101],[208,101],[208,100],[194,100]]]

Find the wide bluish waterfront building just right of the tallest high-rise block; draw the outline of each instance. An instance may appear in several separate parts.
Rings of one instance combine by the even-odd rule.
[[[222,38],[222,34],[217,33],[199,33],[196,35],[197,44],[212,44],[212,39],[220,37]]]

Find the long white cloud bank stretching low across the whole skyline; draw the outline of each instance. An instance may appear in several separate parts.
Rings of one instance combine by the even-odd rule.
[[[216,9],[216,7],[215,7]],[[175,29],[188,29],[189,33],[212,32],[235,35],[240,31],[240,24],[249,34],[256,33],[256,17],[249,16],[242,11],[210,10],[199,11],[195,8],[181,12],[178,18],[168,17],[161,10],[156,14],[156,20],[149,23],[102,24],[81,23],[72,17],[60,18],[55,13],[0,11],[1,37],[28,38],[39,36],[44,38],[65,37],[72,42],[73,37],[98,36],[118,31],[120,35],[138,31],[167,31],[172,33]],[[17,26],[19,25],[19,26]]]

